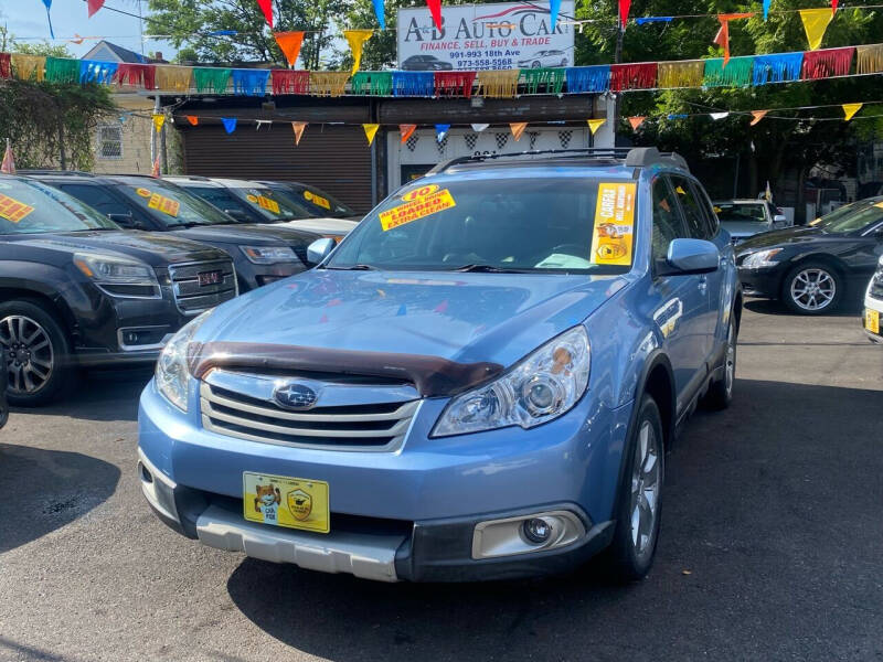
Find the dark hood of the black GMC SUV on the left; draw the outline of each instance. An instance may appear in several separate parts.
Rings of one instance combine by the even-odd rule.
[[[7,237],[17,244],[60,253],[92,252],[105,255],[134,257],[153,267],[171,263],[226,259],[217,248],[204,246],[168,233],[138,231],[77,232],[44,236],[23,235],[21,239]]]

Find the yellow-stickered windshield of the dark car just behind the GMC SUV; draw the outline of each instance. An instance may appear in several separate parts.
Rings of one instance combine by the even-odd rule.
[[[116,180],[121,182],[120,190],[129,200],[167,227],[235,223],[208,202],[161,179],[120,177]]]

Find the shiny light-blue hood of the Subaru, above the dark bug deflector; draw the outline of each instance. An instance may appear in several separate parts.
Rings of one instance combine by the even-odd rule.
[[[509,366],[625,284],[623,276],[312,269],[222,306],[196,340]]]

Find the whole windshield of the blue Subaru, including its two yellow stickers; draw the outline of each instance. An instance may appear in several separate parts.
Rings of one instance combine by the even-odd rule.
[[[585,178],[417,182],[371,212],[326,267],[623,274],[635,191]]]

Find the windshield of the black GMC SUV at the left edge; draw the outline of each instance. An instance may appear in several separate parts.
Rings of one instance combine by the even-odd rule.
[[[0,178],[0,235],[88,229],[119,229],[119,226],[57,189]]]

